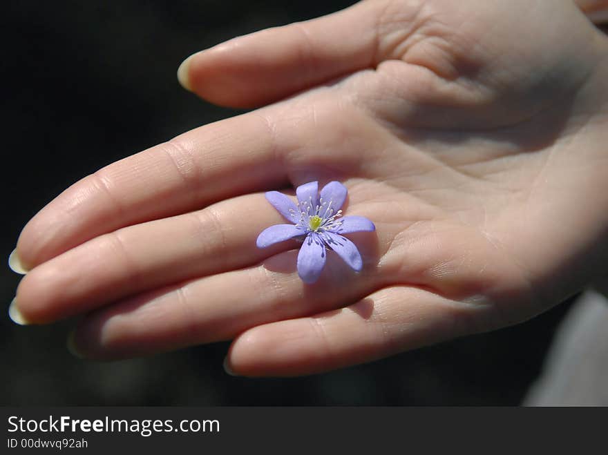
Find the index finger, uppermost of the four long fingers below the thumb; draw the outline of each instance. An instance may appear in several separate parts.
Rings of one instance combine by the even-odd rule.
[[[28,222],[17,242],[19,259],[32,269],[97,235],[281,186],[287,180],[275,146],[265,117],[249,113],[110,164]]]

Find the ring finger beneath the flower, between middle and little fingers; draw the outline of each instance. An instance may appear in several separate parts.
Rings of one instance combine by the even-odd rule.
[[[125,358],[228,340],[256,325],[341,307],[369,293],[377,280],[369,251],[359,274],[327,255],[315,284],[296,271],[297,251],[256,267],[212,275],[146,293],[86,316],[75,346],[91,358]]]

